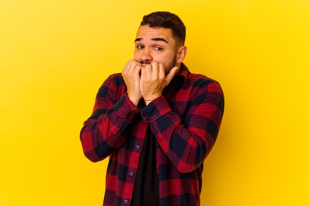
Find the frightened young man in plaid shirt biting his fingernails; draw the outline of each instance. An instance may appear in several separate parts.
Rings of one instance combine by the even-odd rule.
[[[109,157],[104,206],[199,206],[203,161],[224,110],[218,82],[182,63],[178,16],[143,17],[134,60],[101,86],[80,133],[85,156]]]

